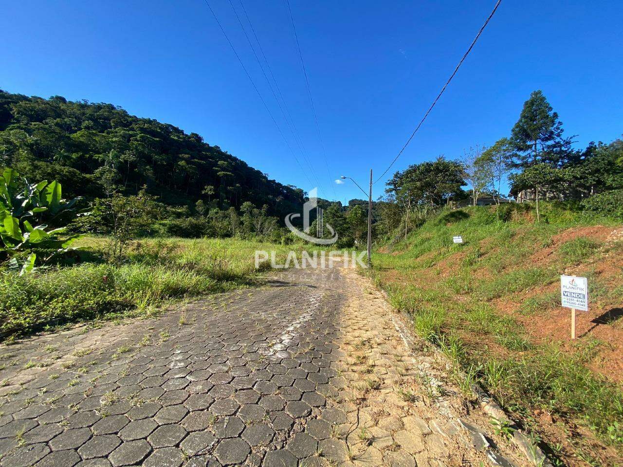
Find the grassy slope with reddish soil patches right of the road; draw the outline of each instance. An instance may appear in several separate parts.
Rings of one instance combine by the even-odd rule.
[[[561,465],[621,465],[623,390],[589,368],[604,343],[587,336],[570,352],[558,339],[535,342],[515,316],[545,319],[559,306],[559,292],[539,291],[555,288],[568,267],[589,276],[593,297],[620,295],[594,264],[582,268],[621,248],[573,238],[535,260],[569,228],[613,225],[556,205],[543,211],[549,223],[533,223],[523,206],[444,212],[375,253],[371,274],[392,305],[412,316],[416,333],[447,354],[467,395],[478,381]],[[453,235],[466,243],[454,245]],[[505,301],[520,306],[502,310]]]

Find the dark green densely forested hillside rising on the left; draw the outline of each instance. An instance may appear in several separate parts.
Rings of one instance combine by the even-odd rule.
[[[168,205],[268,205],[282,218],[303,191],[269,180],[244,161],[176,126],[107,103],[44,99],[0,90],[0,166],[29,180],[57,180],[68,197],[136,194]],[[215,206],[216,205],[216,206]]]

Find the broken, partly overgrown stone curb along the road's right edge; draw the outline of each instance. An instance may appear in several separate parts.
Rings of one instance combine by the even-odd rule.
[[[388,293],[386,291],[384,291],[379,286],[376,286],[376,289],[381,291],[381,293],[383,294],[383,296],[385,297],[385,299],[386,299],[386,301],[388,303],[391,303],[391,301],[389,300],[389,295],[388,295]],[[406,312],[398,311],[398,310],[396,310],[393,307],[392,307],[392,309],[394,309],[394,311],[396,311],[396,313],[399,313],[400,316],[402,317],[402,319],[404,319],[407,323],[409,323],[411,321],[411,317]],[[394,324],[396,324],[396,323],[394,323]],[[407,336],[402,336],[402,337],[406,341]],[[414,339],[411,336],[408,336],[408,339],[411,342],[406,342],[407,345],[414,346]],[[419,339],[419,340],[421,340],[421,339]],[[430,342],[427,342],[427,341],[421,341],[421,342],[425,346],[429,347],[429,349],[434,351],[437,356],[440,356],[443,359],[447,359],[447,357],[439,349],[439,347],[437,347],[434,344],[431,344]],[[460,371],[460,375],[462,377],[466,376],[465,373],[462,372],[462,371]],[[495,402],[495,400],[493,400],[492,397],[489,394],[487,394],[487,392],[485,392],[485,390],[483,390],[482,387],[480,387],[479,384],[472,384],[471,389],[472,389],[472,392],[475,394],[480,407],[482,408],[482,410],[485,413],[487,413],[487,415],[489,415],[490,417],[496,418],[498,421],[500,421],[502,423],[505,423],[509,427],[513,428],[513,437],[511,438],[511,441],[513,441],[515,446],[517,446],[519,448],[519,450],[526,456],[526,458],[528,459],[528,461],[530,461],[530,463],[532,463],[533,465],[538,466],[538,467],[553,467],[553,465],[549,462],[547,456],[545,455],[545,453],[543,453],[541,448],[539,448],[532,441],[530,441],[530,438],[528,438],[528,436],[526,436],[520,430],[520,428],[515,423],[515,421],[511,420],[508,417],[508,415],[506,415],[506,412],[504,412],[502,407],[500,407],[500,405],[498,405],[498,403]],[[480,432],[480,430],[478,430],[476,427],[473,427],[473,425],[470,425],[470,424],[464,422],[464,420],[460,420],[459,419],[459,423],[460,423],[460,425],[463,428],[465,428],[465,430],[467,430],[468,433],[470,433],[470,436],[478,436],[478,435],[483,436],[483,434],[482,434],[482,432]],[[478,433],[478,435],[475,434],[475,433]],[[503,458],[500,459],[499,455],[497,455],[492,450],[488,449],[488,442],[486,440],[484,440],[484,441],[485,441],[485,443],[487,443],[487,445],[486,446],[483,445],[483,450],[485,450],[485,452],[487,453],[487,457],[492,462],[492,464],[493,465],[502,465],[502,466],[505,465],[505,462],[504,462],[505,459],[503,459]]]

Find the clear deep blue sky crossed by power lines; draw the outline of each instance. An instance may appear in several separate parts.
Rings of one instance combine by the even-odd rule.
[[[229,0],[209,1],[298,155]],[[370,167],[384,171],[495,3],[290,0],[328,174],[285,0],[243,1],[312,159],[310,179],[320,196],[333,199],[335,189],[343,201],[361,192],[333,180],[345,174],[363,186]],[[313,187],[203,0],[5,0],[1,11],[0,88],[114,103],[199,133],[280,182]],[[539,88],[578,146],[621,136],[622,26],[619,1],[503,0],[394,168],[492,144]],[[376,184],[375,197],[383,189]]]

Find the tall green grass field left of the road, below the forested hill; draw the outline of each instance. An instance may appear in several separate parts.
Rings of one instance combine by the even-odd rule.
[[[105,238],[84,238],[97,258]],[[163,304],[232,290],[254,282],[255,250],[275,250],[283,263],[292,246],[234,239],[145,239],[117,264],[90,262],[0,273],[0,335],[93,319],[150,316]],[[294,247],[296,249],[296,247]],[[260,265],[260,271],[270,267]]]

